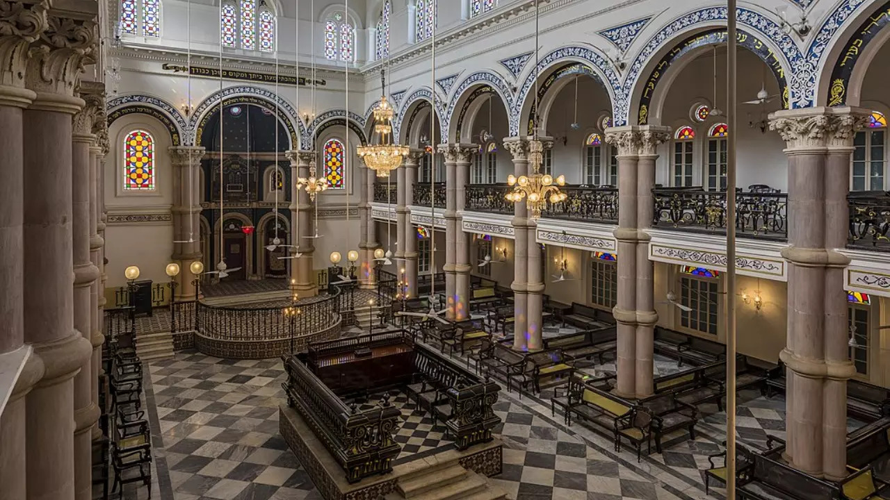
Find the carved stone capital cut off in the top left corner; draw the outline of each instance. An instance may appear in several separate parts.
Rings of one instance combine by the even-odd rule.
[[[0,85],[25,86],[28,45],[46,29],[45,2],[0,0]]]

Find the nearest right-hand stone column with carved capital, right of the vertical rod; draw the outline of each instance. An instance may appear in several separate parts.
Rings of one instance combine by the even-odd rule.
[[[854,131],[868,112],[853,108],[783,110],[770,128],[789,157],[788,343],[781,351],[789,380],[789,462],[829,480],[845,477],[848,347],[843,270],[846,194]]]

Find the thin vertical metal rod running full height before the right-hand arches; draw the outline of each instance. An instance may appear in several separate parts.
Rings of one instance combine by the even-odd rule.
[[[726,498],[735,500],[736,0],[726,0]]]

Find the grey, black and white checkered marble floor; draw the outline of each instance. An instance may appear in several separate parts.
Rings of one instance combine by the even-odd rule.
[[[603,370],[611,362],[607,358]],[[659,359],[657,369],[669,369]],[[673,364],[676,367],[676,363]],[[284,400],[284,371],[278,359],[217,359],[180,352],[150,363],[147,406],[154,434],[157,479],[153,497],[161,500],[270,500],[320,498],[278,432],[277,407]],[[659,372],[660,373],[660,372]],[[611,439],[583,425],[562,425],[552,417],[548,392],[541,397],[501,392],[495,406],[503,423],[496,430],[505,444],[504,472],[493,481],[517,500],[692,500],[723,498],[722,489],[705,496],[701,472],[707,456],[721,451],[725,414],[702,406],[695,440],[677,432],[661,455],[636,462],[630,447],[613,451]],[[368,399],[373,404],[376,399]],[[392,401],[403,410],[398,440],[418,453],[449,446],[433,425],[401,394]],[[741,391],[737,432],[764,446],[766,432],[784,436],[784,401]],[[854,424],[854,423],[851,423]],[[144,498],[142,488],[138,496]]]

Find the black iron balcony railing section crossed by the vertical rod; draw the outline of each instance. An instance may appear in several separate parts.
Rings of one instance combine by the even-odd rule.
[[[652,225],[707,233],[726,232],[726,193],[701,188],[652,190]],[[740,237],[788,238],[788,193],[738,193],[736,230]]]

